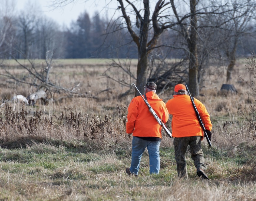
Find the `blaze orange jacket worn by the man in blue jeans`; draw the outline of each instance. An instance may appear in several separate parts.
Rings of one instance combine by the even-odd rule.
[[[158,117],[166,123],[169,114],[165,103],[159,99],[153,91],[146,93],[149,105],[156,112]],[[149,112],[148,106],[141,96],[133,98],[128,107],[128,122],[126,123],[126,133],[133,133],[136,137],[158,137],[162,138],[162,126],[158,124],[154,116]]]

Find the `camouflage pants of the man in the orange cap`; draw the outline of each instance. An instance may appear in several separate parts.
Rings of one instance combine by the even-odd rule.
[[[175,160],[177,164],[178,176],[180,178],[188,178],[187,163],[185,154],[189,145],[191,158],[194,161],[196,169],[202,168],[206,170],[203,157],[203,149],[201,147],[201,136],[174,138],[173,141]]]

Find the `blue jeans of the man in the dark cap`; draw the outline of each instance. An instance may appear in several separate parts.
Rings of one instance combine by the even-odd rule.
[[[147,148],[149,154],[149,173],[158,174],[160,169],[159,147],[161,141],[147,141],[141,138],[132,137],[132,153],[130,172],[138,175],[141,163],[141,157]]]

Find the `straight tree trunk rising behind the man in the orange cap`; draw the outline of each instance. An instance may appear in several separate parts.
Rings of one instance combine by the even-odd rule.
[[[190,0],[190,12],[193,14],[196,12],[196,0]],[[199,96],[198,86],[198,56],[197,56],[197,18],[196,15],[191,17],[191,32],[188,41],[189,47],[189,91],[193,96]]]

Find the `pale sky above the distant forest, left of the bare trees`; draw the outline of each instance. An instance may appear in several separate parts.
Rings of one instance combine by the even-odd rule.
[[[0,2],[3,0],[0,0]],[[117,2],[112,1],[109,4],[108,8],[104,8],[106,2],[110,2],[110,0],[90,0],[84,3],[85,0],[74,0],[74,3],[70,3],[65,7],[59,7],[53,9],[53,7],[49,7],[51,5],[51,0],[16,0],[16,9],[23,10],[28,4],[36,4],[41,8],[43,13],[49,18],[56,21],[59,25],[66,25],[69,27],[70,22],[76,21],[78,16],[86,11],[90,17],[94,16],[96,11],[100,12],[100,17],[104,17],[108,15],[111,17],[113,15],[114,10],[117,8]]]

